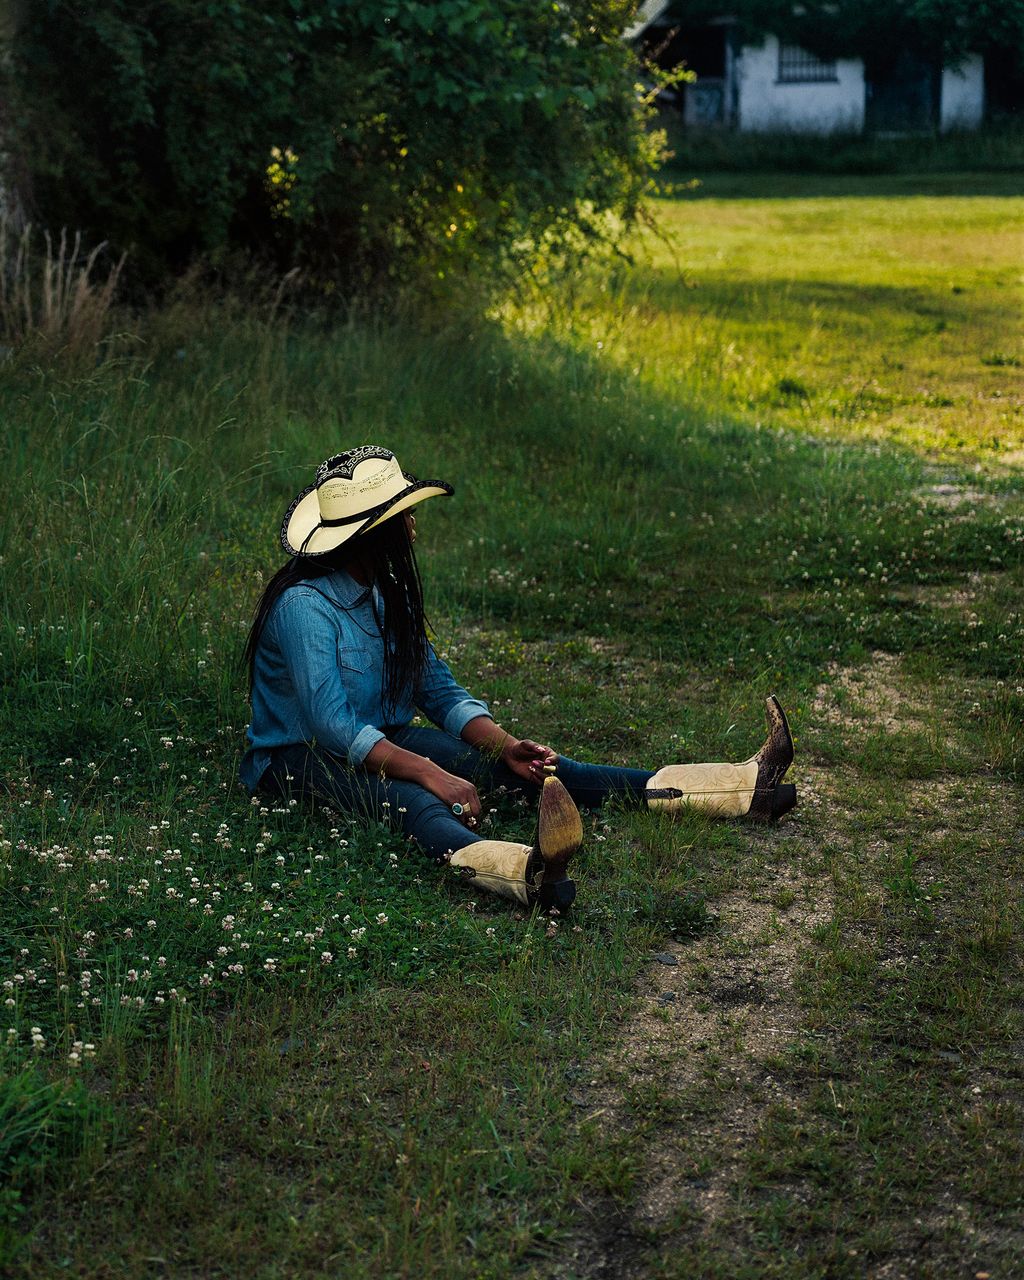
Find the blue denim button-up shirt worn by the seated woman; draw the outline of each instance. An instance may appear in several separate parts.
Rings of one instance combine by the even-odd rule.
[[[490,716],[486,703],[456,684],[433,646],[420,687],[388,717],[383,671],[370,588],[339,570],[282,593],[256,649],[252,723],[239,769],[250,794],[275,746],[315,741],[358,767],[385,737],[384,726],[408,724],[416,708],[454,737],[471,719]]]

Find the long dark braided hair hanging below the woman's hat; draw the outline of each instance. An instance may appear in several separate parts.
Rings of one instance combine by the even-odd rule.
[[[264,588],[256,605],[242,660],[248,667],[248,690],[256,675],[256,652],[274,605],[297,582],[314,585],[317,579],[338,570],[356,570],[376,588],[371,596],[374,620],[384,639],[381,701],[385,717],[393,717],[399,704],[420,685],[426,667],[428,635],[424,616],[424,588],[420,566],[412,549],[408,522],[393,516],[323,556],[293,556]],[[330,599],[325,595],[325,599]],[[380,602],[378,605],[378,600]],[[342,608],[337,600],[330,600]]]

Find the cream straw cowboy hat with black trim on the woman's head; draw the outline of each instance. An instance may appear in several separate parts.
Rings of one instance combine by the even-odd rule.
[[[316,481],[284,513],[280,544],[289,556],[324,556],[417,502],[452,493],[444,480],[403,471],[390,449],[364,444],[320,463]]]

